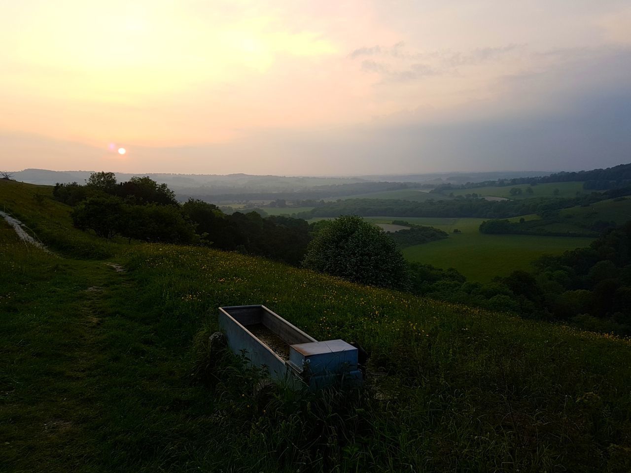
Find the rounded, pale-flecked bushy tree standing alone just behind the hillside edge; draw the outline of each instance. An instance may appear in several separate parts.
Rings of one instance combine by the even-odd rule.
[[[392,237],[355,215],[324,226],[309,243],[304,267],[350,281],[405,288],[408,266]]]

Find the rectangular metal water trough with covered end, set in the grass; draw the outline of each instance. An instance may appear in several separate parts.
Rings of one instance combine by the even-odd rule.
[[[304,382],[311,389],[362,380],[356,347],[343,340],[319,342],[264,305],[220,307],[219,324],[230,349],[245,351],[274,380]]]

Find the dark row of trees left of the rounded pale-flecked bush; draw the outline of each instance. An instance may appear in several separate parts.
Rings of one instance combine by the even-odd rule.
[[[108,239],[212,245],[299,264],[311,238],[304,220],[262,218],[256,212],[227,215],[198,199],[180,204],[167,185],[149,177],[119,183],[114,173],[98,172],[85,185],[57,184],[53,195],[74,207],[74,226]]]

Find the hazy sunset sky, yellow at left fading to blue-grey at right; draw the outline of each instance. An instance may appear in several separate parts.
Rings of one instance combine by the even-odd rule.
[[[0,0],[0,44],[5,170],[631,162],[628,0]]]

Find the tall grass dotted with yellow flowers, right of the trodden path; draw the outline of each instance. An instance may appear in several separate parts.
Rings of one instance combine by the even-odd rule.
[[[156,329],[183,345],[200,326],[218,328],[218,306],[264,303],[317,339],[357,341],[371,354],[372,388],[301,397],[310,411],[282,390],[278,404],[261,407],[251,386],[231,390],[235,377],[227,377],[225,391],[213,394],[234,419],[222,426],[235,433],[230,460],[216,460],[223,466],[606,470],[611,445],[630,440],[628,341],[239,254],[154,245],[128,257],[146,297],[163,307]]]

